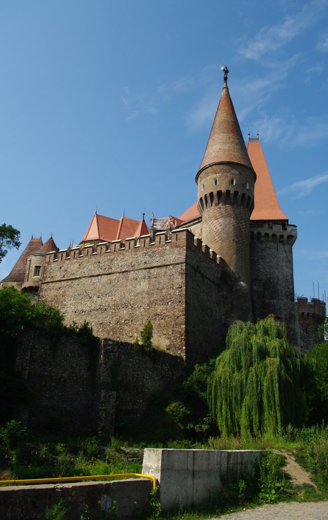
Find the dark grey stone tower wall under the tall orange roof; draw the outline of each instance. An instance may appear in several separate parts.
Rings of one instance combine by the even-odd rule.
[[[251,300],[254,321],[273,314],[286,324],[288,341],[297,345],[293,250],[296,227],[251,225]]]

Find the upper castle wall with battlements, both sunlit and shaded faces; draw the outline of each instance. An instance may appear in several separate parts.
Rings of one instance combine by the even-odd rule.
[[[111,242],[59,251],[47,255],[40,300],[58,307],[66,323],[86,319],[96,335],[115,341],[132,343],[150,319],[156,348],[185,359],[187,345],[196,362],[218,342],[222,265],[188,230],[172,232],[170,240],[158,233],[154,243],[133,239],[125,249]]]

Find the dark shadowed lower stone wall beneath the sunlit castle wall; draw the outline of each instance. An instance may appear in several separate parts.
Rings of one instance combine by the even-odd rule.
[[[116,415],[129,425],[141,419],[149,399],[181,377],[181,357],[104,340],[95,355],[74,336],[56,343],[38,332],[24,335],[16,372],[32,389],[28,406],[19,411],[36,429],[92,431],[106,437],[115,430]]]

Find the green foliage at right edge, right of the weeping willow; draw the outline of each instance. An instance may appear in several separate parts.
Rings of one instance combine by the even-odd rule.
[[[305,354],[303,369],[309,423],[328,423],[328,341]]]

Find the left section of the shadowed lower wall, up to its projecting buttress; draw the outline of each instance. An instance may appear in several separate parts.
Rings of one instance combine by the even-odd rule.
[[[30,405],[20,410],[29,426],[58,425],[69,432],[91,428],[98,433],[102,422],[107,425],[102,433],[113,433],[115,392],[105,384],[99,388],[99,352],[90,354],[89,346],[81,345],[75,337],[53,343],[39,332],[24,335],[17,351],[16,372],[33,391]],[[98,406],[100,390],[106,397],[103,410]]]

